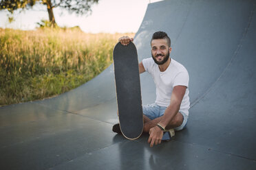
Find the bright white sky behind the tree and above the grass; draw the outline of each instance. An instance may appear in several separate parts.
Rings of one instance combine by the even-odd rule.
[[[54,8],[56,23],[61,27],[79,26],[88,33],[137,32],[147,10],[148,3],[160,0],[99,0],[92,6],[90,16],[77,16],[60,8]],[[0,11],[0,27],[35,29],[42,19],[49,20],[45,5],[36,5],[32,10],[14,12],[14,22],[8,22],[8,12]]]

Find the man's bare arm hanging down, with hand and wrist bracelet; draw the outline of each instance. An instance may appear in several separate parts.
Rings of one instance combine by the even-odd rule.
[[[173,92],[171,93],[170,105],[165,110],[164,115],[160,117],[161,120],[159,123],[160,125],[162,125],[162,127],[165,128],[167,127],[167,125],[170,125],[171,121],[180,110],[180,104],[182,102],[185,92],[186,86],[175,86],[173,88]],[[148,143],[150,143],[150,147],[153,147],[154,144],[158,145],[161,143],[163,132],[158,126],[152,127],[149,130],[149,134],[150,136]]]

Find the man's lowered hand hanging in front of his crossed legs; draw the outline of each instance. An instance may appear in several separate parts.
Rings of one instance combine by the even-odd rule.
[[[164,133],[162,132],[162,130],[160,130],[158,126],[152,127],[149,130],[149,141],[147,141],[148,143],[150,143],[150,147],[153,147],[154,144],[160,144],[162,141],[163,134]]]

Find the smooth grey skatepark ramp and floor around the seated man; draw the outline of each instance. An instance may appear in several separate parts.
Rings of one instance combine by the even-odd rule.
[[[256,169],[256,1],[150,3],[134,38],[151,57],[153,32],[171,38],[171,58],[189,71],[186,128],[149,147],[129,141],[118,122],[113,65],[52,99],[0,108],[0,169]],[[140,75],[142,104],[155,85]]]

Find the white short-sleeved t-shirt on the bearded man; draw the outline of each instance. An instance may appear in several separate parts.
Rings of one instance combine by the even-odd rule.
[[[151,74],[156,84],[156,104],[168,107],[171,102],[171,93],[175,86],[186,86],[186,93],[180,105],[180,111],[189,115],[189,73],[186,68],[171,58],[171,63],[167,70],[161,72],[158,64],[153,58],[142,60],[145,70]]]

